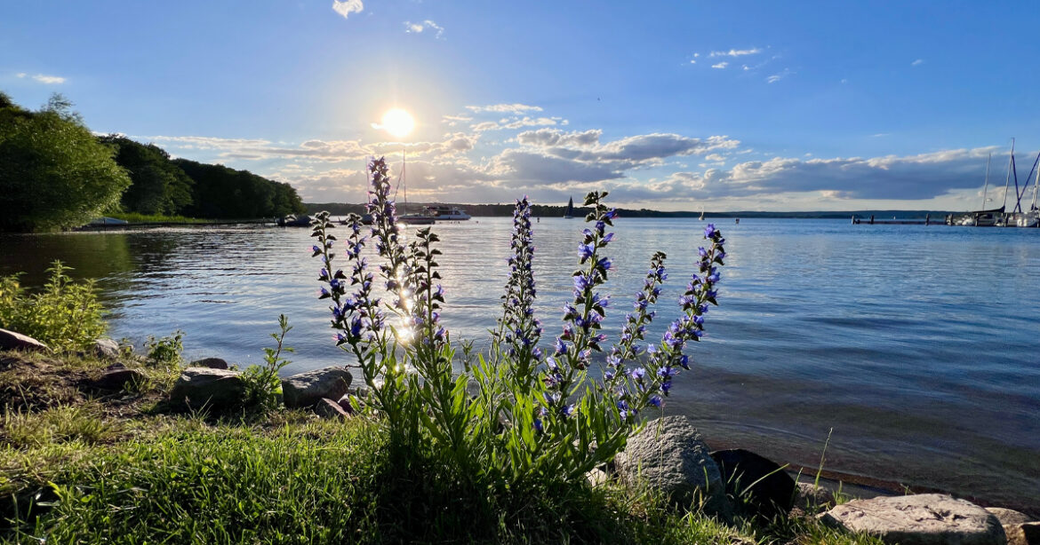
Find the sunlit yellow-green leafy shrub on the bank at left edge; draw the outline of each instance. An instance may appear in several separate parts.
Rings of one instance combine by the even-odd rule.
[[[43,291],[28,295],[18,275],[0,278],[0,327],[18,331],[59,351],[86,349],[107,324],[94,280],[75,282],[59,261],[48,269]]]

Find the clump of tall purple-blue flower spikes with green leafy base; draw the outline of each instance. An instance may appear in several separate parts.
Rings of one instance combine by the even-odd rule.
[[[460,474],[505,486],[574,482],[613,459],[640,426],[641,412],[660,407],[679,370],[690,369],[686,345],[701,338],[704,315],[718,304],[722,234],[713,225],[704,230],[707,244],[679,300],[682,312],[656,343],[646,340],[647,328],[668,275],[666,255],[653,255],[633,311],[610,346],[602,330],[610,301],[600,290],[613,269],[606,249],[617,212],[604,203],[606,192],[590,193],[584,206],[592,210],[586,217],[591,225],[577,248],[573,299],[564,306],[562,332],[542,347],[544,328],[534,311],[531,207],[519,200],[491,350],[475,361],[467,355],[457,374],[440,323],[437,235],[426,227],[409,237],[389,197],[386,162],[375,160],[369,170],[370,233],[363,234],[361,218],[352,215],[346,239],[338,242],[329,214],[320,213],[312,254],[322,262],[319,298],[331,302],[337,344],[358,359],[368,406],[386,421],[392,451],[437,453]],[[374,268],[363,255],[369,244],[382,257]],[[334,267],[334,248],[344,253],[345,271]]]

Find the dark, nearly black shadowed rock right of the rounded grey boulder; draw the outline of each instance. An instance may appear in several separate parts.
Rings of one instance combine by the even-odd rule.
[[[742,515],[773,520],[790,511],[795,480],[779,464],[744,448],[716,451],[711,458]]]

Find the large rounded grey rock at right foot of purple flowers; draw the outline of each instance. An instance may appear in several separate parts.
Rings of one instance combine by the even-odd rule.
[[[643,482],[679,505],[703,502],[705,512],[724,518],[732,513],[719,466],[685,416],[648,423],[628,438],[615,462],[619,478],[629,486]]]

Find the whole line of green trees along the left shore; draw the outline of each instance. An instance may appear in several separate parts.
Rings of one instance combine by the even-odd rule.
[[[288,184],[96,136],[59,94],[33,111],[0,92],[0,230],[44,231],[118,212],[245,219],[307,209]]]

